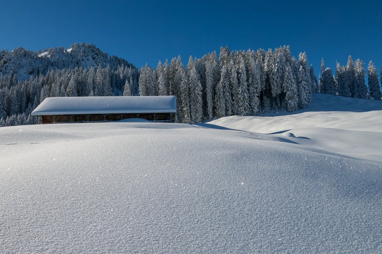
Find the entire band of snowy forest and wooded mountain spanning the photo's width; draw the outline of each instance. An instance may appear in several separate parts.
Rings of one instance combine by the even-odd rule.
[[[307,55],[298,59],[289,46],[265,51],[230,51],[221,47],[201,58],[180,56],[153,69],[140,70],[128,61],[108,56],[92,44],[44,52],[22,48],[0,51],[0,126],[38,123],[31,112],[47,97],[164,96],[177,97],[177,120],[255,115],[272,109],[305,108],[314,92],[380,99],[378,75],[372,62],[368,86],[363,63],[349,56],[338,63],[336,76],[321,63],[319,81]]]

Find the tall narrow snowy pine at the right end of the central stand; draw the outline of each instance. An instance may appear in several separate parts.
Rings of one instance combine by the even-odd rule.
[[[306,108],[312,100],[312,85],[306,53],[299,54],[299,106]]]

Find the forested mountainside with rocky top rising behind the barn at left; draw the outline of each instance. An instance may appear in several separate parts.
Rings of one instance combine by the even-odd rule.
[[[92,44],[0,51],[0,126],[38,123],[31,112],[46,97],[117,96],[126,81],[138,93],[138,79],[135,66]]]

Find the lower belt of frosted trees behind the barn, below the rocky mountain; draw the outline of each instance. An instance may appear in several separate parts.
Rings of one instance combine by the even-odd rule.
[[[0,76],[0,126],[36,124],[39,118],[32,111],[47,97],[119,96],[128,82],[133,93],[138,93],[139,70],[124,64],[111,70],[82,67],[49,70],[45,75],[17,79],[11,71]]]

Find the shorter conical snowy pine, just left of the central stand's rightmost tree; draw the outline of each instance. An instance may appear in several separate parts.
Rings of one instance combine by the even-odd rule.
[[[284,81],[282,83],[282,88],[285,92],[285,107],[288,112],[293,112],[298,109],[299,106],[299,100],[298,100],[298,92],[297,92],[297,86],[296,81],[293,78],[292,70],[288,65],[285,69],[285,75],[284,75]]]

